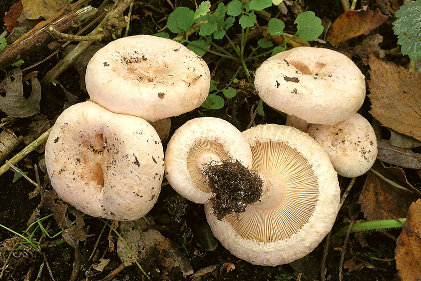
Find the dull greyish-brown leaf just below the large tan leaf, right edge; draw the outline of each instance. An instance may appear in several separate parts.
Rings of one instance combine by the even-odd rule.
[[[378,139],[377,158],[403,168],[421,169],[421,153],[394,146],[386,139]]]

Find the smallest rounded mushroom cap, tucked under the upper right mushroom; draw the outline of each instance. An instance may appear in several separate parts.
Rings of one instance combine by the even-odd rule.
[[[370,122],[358,113],[334,125],[312,124],[308,133],[325,149],[342,176],[362,175],[376,161],[376,134]]]

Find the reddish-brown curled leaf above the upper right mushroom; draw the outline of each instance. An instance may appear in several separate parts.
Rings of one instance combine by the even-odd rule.
[[[370,30],[378,27],[388,19],[379,9],[350,10],[341,14],[329,28],[327,41],[337,45],[345,40],[362,34],[369,34]]]

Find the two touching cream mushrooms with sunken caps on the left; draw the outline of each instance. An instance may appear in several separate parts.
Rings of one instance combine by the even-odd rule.
[[[91,101],[64,110],[46,143],[51,184],[89,215],[137,219],[156,202],[164,172],[161,139],[150,123],[166,126],[163,136],[170,116],[198,107],[209,91],[209,68],[178,42],[138,35],[99,49],[85,81]]]

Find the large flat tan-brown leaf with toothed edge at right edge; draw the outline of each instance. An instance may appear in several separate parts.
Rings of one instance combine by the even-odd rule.
[[[421,73],[370,55],[370,113],[383,125],[421,140]]]

